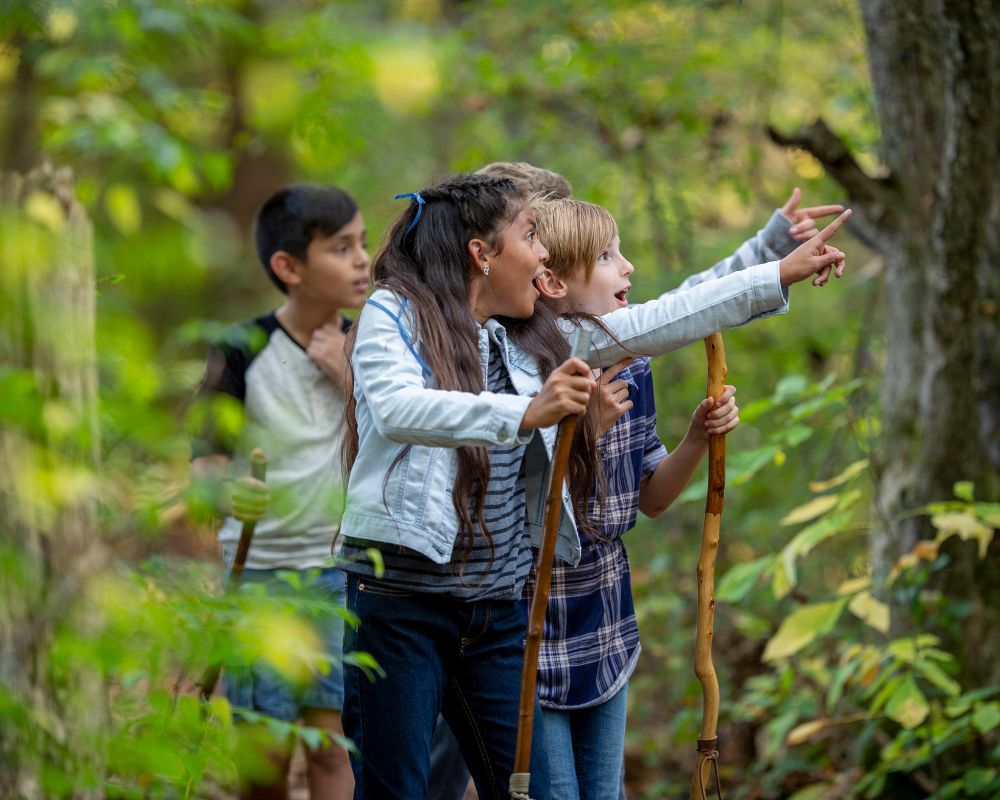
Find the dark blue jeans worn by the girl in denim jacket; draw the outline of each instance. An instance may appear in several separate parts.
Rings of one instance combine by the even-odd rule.
[[[349,575],[344,652],[370,653],[386,677],[345,669],[344,732],[356,800],[427,797],[431,740],[442,713],[481,800],[508,800],[527,622],[510,600],[462,602]],[[535,701],[531,796],[548,800],[541,715]]]

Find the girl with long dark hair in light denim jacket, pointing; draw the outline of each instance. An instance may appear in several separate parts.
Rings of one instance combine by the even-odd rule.
[[[408,196],[353,331],[356,430],[345,449],[341,531],[354,559],[345,566],[348,608],[361,624],[345,650],[368,651],[386,677],[372,683],[348,665],[344,727],[359,748],[357,797],[426,797],[443,710],[480,797],[504,798],[523,656],[519,599],[541,530],[554,426],[583,413],[594,382],[582,361],[553,358],[568,343],[551,311],[535,308],[548,254],[514,185],[459,176]],[[619,308],[604,319],[609,332],[595,333],[588,360],[667,352],[778,313],[785,287],[842,259],[825,250],[811,240],[780,264]],[[593,487],[579,480],[593,467],[586,455],[571,465],[572,501],[563,489],[556,552],[569,563],[580,557],[574,510],[586,522]],[[385,561],[379,578],[365,555],[372,546]],[[539,721],[531,786],[545,800]]]

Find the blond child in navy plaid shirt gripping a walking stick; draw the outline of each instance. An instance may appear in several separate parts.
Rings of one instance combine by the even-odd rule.
[[[566,316],[601,316],[619,308],[633,267],[621,254],[611,215],[579,200],[533,207],[549,243],[546,273],[538,282],[543,301]],[[581,532],[577,566],[553,567],[539,656],[553,800],[618,796],[628,679],[639,657],[622,536],[635,526],[637,510],[655,517],[673,502],[704,456],[710,434],[726,433],[739,422],[735,390],[727,386],[718,401],[698,405],[687,435],[668,455],[656,433],[649,360],[621,362],[608,375],[616,377],[613,404],[624,413],[600,430],[605,491],[591,498],[589,508],[599,535]]]

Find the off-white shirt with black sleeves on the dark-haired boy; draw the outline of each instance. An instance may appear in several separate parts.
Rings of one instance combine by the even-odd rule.
[[[344,329],[349,325],[345,321]],[[267,458],[271,504],[254,529],[246,567],[330,566],[344,509],[343,393],[274,313],[230,329],[209,355],[202,392],[213,396],[208,418],[214,423],[195,440],[194,455],[230,456],[234,477],[249,473],[254,448]],[[227,437],[221,432],[233,427],[227,420],[239,417],[229,398],[242,405],[243,419],[239,433]],[[224,552],[235,552],[241,528],[226,518],[219,531]]]

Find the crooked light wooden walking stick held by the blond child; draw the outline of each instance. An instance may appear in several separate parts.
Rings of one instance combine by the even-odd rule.
[[[726,351],[722,334],[705,338],[708,356],[708,397],[717,400],[726,383]],[[719,679],[712,663],[712,628],[715,623],[715,557],[719,552],[719,524],[722,521],[722,500],[726,492],[726,435],[708,438],[708,497],[705,501],[705,523],[701,530],[701,552],[698,555],[698,631],[694,645],[694,672],[701,682],[701,735],[698,738],[698,759],[691,778],[691,800],[707,800],[709,777],[715,772],[715,788],[722,798],[719,780]]]

